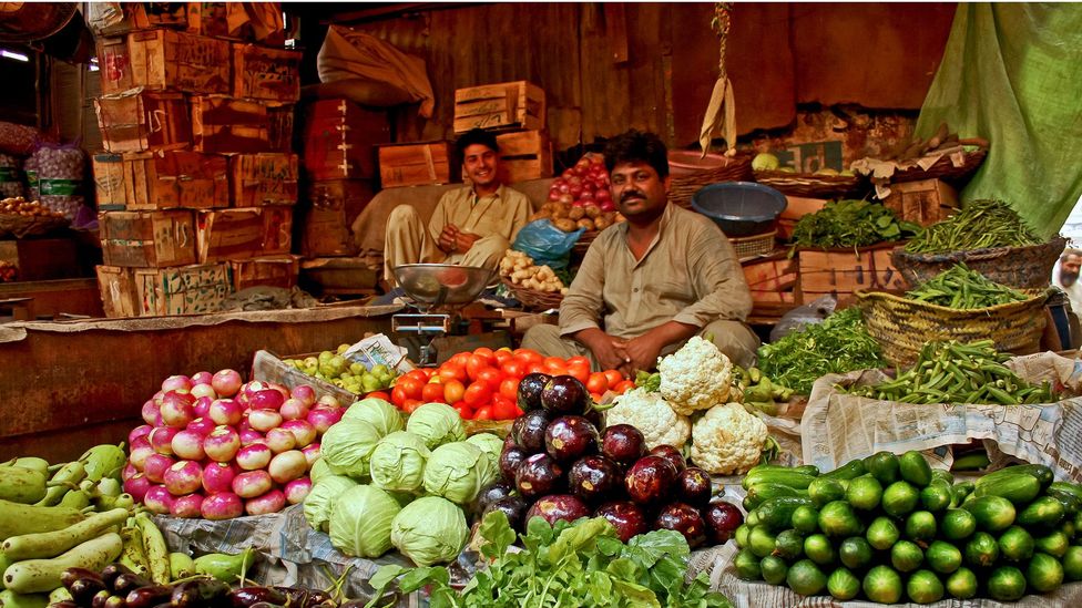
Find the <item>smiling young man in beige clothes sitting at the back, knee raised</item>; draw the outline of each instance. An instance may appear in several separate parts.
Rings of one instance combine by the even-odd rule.
[[[472,183],[445,194],[426,227],[410,205],[399,205],[387,218],[384,279],[395,285],[391,270],[402,264],[458,264],[496,269],[514,236],[532,213],[530,199],[500,181],[500,148],[496,135],[474,128],[455,144],[462,158],[462,176]]]

